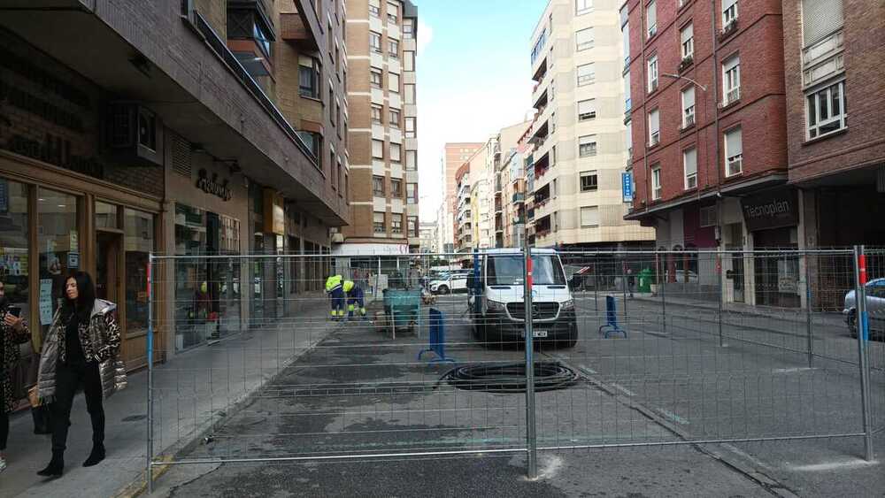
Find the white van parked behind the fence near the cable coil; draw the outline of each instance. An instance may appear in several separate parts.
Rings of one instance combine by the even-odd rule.
[[[489,249],[480,256],[479,294],[469,306],[473,333],[483,342],[518,342],[525,334],[525,257],[514,249]],[[553,249],[532,249],[533,337],[571,348],[578,341],[574,299],[562,261]]]

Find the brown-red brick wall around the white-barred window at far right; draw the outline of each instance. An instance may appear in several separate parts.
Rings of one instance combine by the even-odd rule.
[[[799,2],[784,1],[784,65],[790,181],[885,162],[885,4],[845,0],[844,61],[848,129],[805,143],[802,91],[802,25]]]

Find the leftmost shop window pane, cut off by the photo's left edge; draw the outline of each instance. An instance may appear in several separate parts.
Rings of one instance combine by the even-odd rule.
[[[32,330],[36,320],[29,319],[28,299],[28,217],[27,185],[0,179],[0,281],[6,299],[21,309]]]

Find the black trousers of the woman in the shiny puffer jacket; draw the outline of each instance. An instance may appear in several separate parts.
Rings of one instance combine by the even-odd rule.
[[[102,379],[98,364],[58,364],[56,372],[56,399],[50,405],[52,414],[52,453],[64,453],[67,430],[71,425],[71,406],[77,387],[82,384],[86,395],[86,410],[92,419],[92,444],[104,444],[104,406],[102,405]]]

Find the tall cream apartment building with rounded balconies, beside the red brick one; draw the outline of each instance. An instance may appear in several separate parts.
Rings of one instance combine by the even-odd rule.
[[[654,240],[653,229],[624,219],[627,132],[617,23],[614,4],[550,0],[532,34],[530,231],[537,246],[642,246]]]

